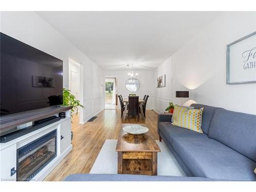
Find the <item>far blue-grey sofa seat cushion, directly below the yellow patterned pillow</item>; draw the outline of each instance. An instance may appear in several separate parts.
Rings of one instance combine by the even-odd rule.
[[[170,144],[176,137],[208,138],[206,134],[194,132],[179,126],[172,125],[172,122],[159,122],[158,129],[162,132]]]

